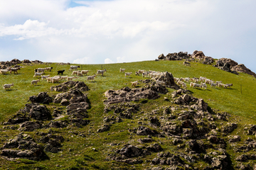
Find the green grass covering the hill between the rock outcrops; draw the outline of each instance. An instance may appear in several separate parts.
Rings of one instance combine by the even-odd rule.
[[[188,86],[188,94],[196,97],[203,98],[203,100],[208,103],[208,106],[214,112],[224,113],[227,112],[231,115],[228,119],[229,123],[238,123],[238,128],[236,128],[229,135],[240,135],[242,139],[238,142],[238,145],[243,145],[247,137],[251,137],[255,140],[255,136],[247,135],[244,128],[248,124],[256,125],[255,118],[255,90],[256,81],[255,78],[248,75],[240,73],[239,75],[231,74],[230,72],[224,72],[220,69],[212,67],[212,65],[201,64],[199,62],[191,62],[191,67],[182,64],[183,61],[145,61],[145,62],[132,62],[132,63],[122,63],[122,64],[82,64],[80,69],[90,70],[89,74],[92,75],[96,73],[97,69],[107,69],[104,76],[97,76],[95,81],[88,82],[86,77],[79,77],[74,79],[74,81],[85,81],[85,84],[89,87],[90,91],[84,92],[90,101],[90,109],[87,110],[90,120],[89,125],[82,126],[78,128],[72,125],[68,125],[67,128],[51,128],[58,135],[64,137],[64,142],[61,143],[61,152],[51,153],[46,152],[48,159],[43,159],[41,161],[32,161],[27,159],[19,159],[18,161],[10,162],[6,159],[0,158],[1,169],[146,169],[151,167],[151,160],[156,157],[157,153],[151,153],[151,155],[146,157],[140,157],[142,159],[142,164],[127,164],[124,162],[117,162],[110,157],[117,149],[121,149],[125,144],[129,143],[132,145],[138,145],[137,140],[140,138],[138,135],[134,135],[128,131],[128,129],[138,128],[138,122],[144,123],[149,128],[148,120],[145,118],[145,113],[151,113],[151,111],[159,109],[162,111],[163,107],[178,107],[174,104],[174,99],[171,98],[171,92],[174,89],[169,89],[169,93],[160,94],[160,98],[156,100],[147,100],[145,103],[142,101],[133,101],[132,103],[139,105],[139,111],[132,114],[132,119],[122,118],[122,123],[114,123],[111,125],[110,130],[107,132],[97,132],[97,129],[105,123],[103,123],[103,118],[105,116],[114,115],[113,111],[109,113],[104,112],[105,91],[113,89],[122,89],[125,86],[131,87],[131,81],[137,81],[142,79],[149,79],[142,76],[135,76],[135,72],[138,69],[154,70],[159,72],[170,72],[174,77],[207,77],[208,79],[213,79],[214,81],[223,81],[224,84],[233,84],[230,89],[223,88],[212,88],[208,86],[208,89],[194,89]],[[38,93],[47,91],[50,96],[55,96],[60,92],[50,91],[50,86],[55,86],[57,84],[47,83],[46,81],[40,81],[38,86],[31,86],[31,80],[33,78],[33,70],[38,67],[53,67],[51,72],[46,72],[50,74],[51,77],[57,74],[58,70],[65,69],[63,76],[68,75],[72,72],[68,71],[70,65],[58,65],[52,64],[32,64],[23,65],[23,68],[18,70],[18,74],[0,74],[1,84],[14,83],[14,87],[11,87],[10,91],[1,90],[0,91],[0,120],[1,122],[6,122],[11,115],[14,115],[19,109],[24,108],[26,103],[30,103],[28,98],[33,95],[38,95]],[[123,73],[119,72],[119,68],[125,68],[127,72],[132,72],[131,77],[124,77]],[[139,81],[139,85],[136,88],[143,87],[145,84]],[[164,97],[169,98],[169,101],[164,101]],[[54,108],[63,108],[55,103],[50,103],[47,108],[52,113]],[[175,112],[174,112],[175,113]],[[178,114],[178,113],[177,113]],[[61,118],[61,120],[66,120],[68,116]],[[159,115],[161,117],[161,115]],[[159,118],[158,117],[158,118]],[[49,120],[48,120],[49,121]],[[218,128],[221,128],[225,122],[215,122]],[[6,128],[7,127],[7,128]],[[16,135],[20,133],[17,130],[18,125],[14,130],[8,128],[8,126],[0,125],[0,147],[4,145],[8,140],[13,139]],[[153,127],[153,129],[161,131],[161,128]],[[37,132],[48,132],[48,129],[38,129],[33,132],[23,132],[31,135],[33,139],[38,140]],[[81,137],[78,134],[84,134]],[[221,136],[223,139],[228,141],[228,136]],[[170,137],[153,137],[155,142],[159,143],[164,149],[164,152],[177,153],[177,147],[171,144],[172,139]],[[255,148],[256,149],[256,148]],[[213,149],[214,150],[214,149]],[[235,158],[241,153],[235,152],[233,150],[232,144],[228,143],[226,150],[230,157],[229,167],[236,169],[237,163]],[[184,149],[181,148],[181,152]],[[250,151],[252,152],[252,151]],[[150,160],[150,161],[147,161]],[[192,164],[186,162],[187,164]],[[243,164],[256,164],[255,160],[250,159],[250,161],[242,162]],[[202,158],[197,159],[193,162],[193,167],[199,167],[203,169],[206,166],[210,166]],[[168,165],[162,165],[162,167],[169,167]]]

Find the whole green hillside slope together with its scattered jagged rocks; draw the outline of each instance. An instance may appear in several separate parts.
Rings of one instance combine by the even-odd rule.
[[[58,99],[58,103],[55,96],[63,91],[50,91],[58,84],[40,81],[31,86],[33,70],[53,67],[46,74],[53,77],[65,69],[63,76],[70,76],[70,66],[20,65],[23,68],[18,74],[0,74],[2,84],[14,83],[11,90],[0,91],[2,169],[255,168],[256,81],[248,74],[236,75],[199,62],[186,66],[183,61],[82,64],[80,69],[90,70],[90,75],[102,67],[107,72],[95,81],[86,81],[85,76],[74,79],[86,85],[67,85],[67,96],[75,97]],[[132,76],[124,77],[119,68]],[[196,89],[187,83],[187,91],[177,94],[154,80],[136,76],[138,69],[169,72],[174,77],[207,77],[233,86]],[[131,81],[139,84],[131,87]],[[126,86],[129,88],[123,89]],[[120,89],[118,97],[133,99],[107,103],[105,92],[116,95]],[[52,97],[50,103],[36,97],[28,101],[43,91],[48,92],[41,94],[43,98]],[[41,104],[26,105],[31,101]],[[74,103],[83,104],[74,110]]]

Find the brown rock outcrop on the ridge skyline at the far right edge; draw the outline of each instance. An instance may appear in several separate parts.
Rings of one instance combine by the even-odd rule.
[[[250,69],[245,67],[244,64],[238,64],[234,60],[228,58],[221,58],[220,60],[216,61],[216,64],[213,67],[218,67],[226,72],[231,72],[234,74],[238,74],[238,72],[244,72],[246,74],[250,74],[253,77],[256,77],[255,72],[252,72]]]

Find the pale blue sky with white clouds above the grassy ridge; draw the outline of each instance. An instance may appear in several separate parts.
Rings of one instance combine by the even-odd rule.
[[[0,0],[0,61],[108,64],[203,51],[256,72],[255,0]]]

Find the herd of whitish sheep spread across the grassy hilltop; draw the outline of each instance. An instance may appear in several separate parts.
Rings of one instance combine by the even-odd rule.
[[[45,79],[47,82],[50,82],[50,83],[60,83],[61,80],[72,81],[73,79],[78,78],[78,77],[75,77],[75,76],[82,77],[82,76],[86,75],[87,76],[87,79],[86,79],[87,81],[94,81],[96,75],[102,75],[103,76],[103,74],[105,72],[107,72],[107,69],[97,69],[96,74],[93,74],[93,75],[89,76],[89,75],[87,75],[89,70],[78,70],[78,68],[80,68],[80,66],[70,65],[69,71],[72,72],[71,76],[73,76],[73,77],[60,76],[60,74],[63,75],[63,72],[65,72],[65,70],[58,70],[57,71],[58,74],[54,77],[50,77],[49,74],[48,75],[43,75],[43,74],[46,74],[46,72],[51,72],[53,67],[34,69],[33,77],[38,78],[38,79],[32,80],[31,81],[31,86],[32,85],[34,85],[34,86],[37,85],[38,82],[40,81],[40,78],[41,78],[41,81],[43,81]],[[8,72],[10,72],[10,73],[14,72],[14,74],[18,74],[18,69],[20,69],[20,67],[8,67],[6,69],[0,69],[0,73],[1,74],[7,74]],[[131,77],[131,75],[132,75],[132,72],[125,72],[124,68],[120,68],[119,72],[120,73],[123,72],[124,77]],[[136,76],[139,76],[140,74],[142,75],[142,77],[149,77],[151,79],[156,79],[157,77],[163,76],[164,72],[156,72],[156,71],[151,71],[151,70],[146,71],[144,69],[139,69],[137,72],[135,72]],[[159,81],[159,80],[156,80],[156,81]],[[206,77],[199,77],[199,78],[196,78],[196,77],[193,77],[193,78],[189,78],[189,77],[176,78],[176,77],[174,77],[174,81],[179,86],[182,86],[183,89],[187,89],[186,83],[188,83],[190,87],[202,88],[202,89],[207,89],[207,84],[209,84],[211,87],[218,86],[218,87],[228,88],[228,87],[233,86],[233,84],[223,84],[222,81],[213,81],[211,79],[207,79]],[[138,81],[132,81],[131,83],[132,83],[132,86],[136,87],[137,84],[138,84]],[[159,81],[158,83],[164,84],[164,81],[163,82]],[[201,84],[199,84],[199,83],[201,83]],[[9,90],[9,89],[11,89],[11,86],[14,86],[14,83],[4,84],[3,86],[4,86],[5,90]]]

